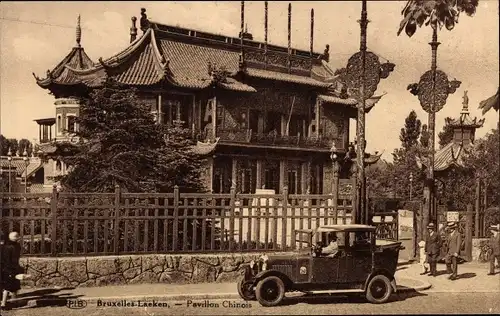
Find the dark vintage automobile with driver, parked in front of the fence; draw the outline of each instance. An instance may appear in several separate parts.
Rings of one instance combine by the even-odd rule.
[[[403,247],[398,241],[377,240],[375,227],[328,225],[296,230],[295,237],[308,246],[292,253],[262,255],[245,266],[238,282],[241,298],[276,306],[286,292],[303,292],[364,296],[380,304],[396,292],[394,274]],[[323,246],[331,239],[336,239],[338,250],[325,255]]]

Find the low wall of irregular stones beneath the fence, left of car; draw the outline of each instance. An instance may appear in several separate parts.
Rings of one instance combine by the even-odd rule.
[[[92,287],[139,283],[236,282],[252,254],[130,255],[21,259],[30,280],[24,287]]]

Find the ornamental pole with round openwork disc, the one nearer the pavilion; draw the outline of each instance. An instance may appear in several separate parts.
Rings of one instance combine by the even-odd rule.
[[[344,84],[349,94],[358,101],[358,117],[356,126],[356,165],[357,165],[357,204],[354,207],[354,223],[367,220],[366,209],[366,179],[365,179],[365,114],[366,99],[373,96],[377,90],[380,79],[385,79],[394,70],[395,65],[387,62],[380,64],[379,58],[372,52],[366,50],[366,29],[368,26],[368,13],[366,0],[362,1],[361,19],[358,21],[361,27],[360,51],[349,58],[346,69],[340,70],[343,75]]]

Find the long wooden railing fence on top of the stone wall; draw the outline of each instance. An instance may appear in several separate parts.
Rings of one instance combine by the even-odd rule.
[[[28,193],[0,199],[4,233],[23,255],[286,251],[295,230],[351,219],[351,196],[173,193]],[[317,240],[320,238],[316,237]]]

